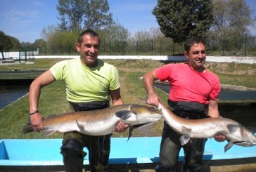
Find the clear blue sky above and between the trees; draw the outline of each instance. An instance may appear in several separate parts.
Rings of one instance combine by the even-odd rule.
[[[256,17],[256,1],[245,0]],[[44,27],[60,23],[56,6],[58,0],[0,0],[0,30],[20,42],[33,43],[41,39]],[[128,29],[137,31],[158,27],[152,14],[157,0],[108,0],[113,20]],[[256,34],[256,29],[251,33]]]

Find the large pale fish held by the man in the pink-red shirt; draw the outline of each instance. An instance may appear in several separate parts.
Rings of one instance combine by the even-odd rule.
[[[158,109],[167,124],[181,134],[181,145],[188,143],[190,138],[212,138],[215,135],[225,135],[229,142],[224,151],[229,150],[233,145],[253,146],[256,145],[256,136],[241,124],[226,118],[206,119],[184,119],[178,117],[161,102]]]

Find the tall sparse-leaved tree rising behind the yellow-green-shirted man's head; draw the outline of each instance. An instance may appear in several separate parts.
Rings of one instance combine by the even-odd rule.
[[[107,0],[58,0],[60,31],[104,29],[113,24]]]

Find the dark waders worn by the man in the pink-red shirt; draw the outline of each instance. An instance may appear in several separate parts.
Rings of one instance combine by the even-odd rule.
[[[197,102],[171,102],[168,101],[172,112],[177,116],[188,119],[207,118],[205,114],[205,105]],[[179,141],[180,134],[172,130],[166,122],[162,131],[162,140],[160,145],[160,160],[155,171],[177,171],[178,157],[181,147],[184,149],[184,171],[200,171],[203,166],[203,152],[206,139],[191,138],[189,142],[181,146]]]

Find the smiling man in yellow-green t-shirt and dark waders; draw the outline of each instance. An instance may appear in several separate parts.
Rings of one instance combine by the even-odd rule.
[[[43,116],[38,109],[41,88],[56,80],[65,84],[67,99],[75,111],[109,107],[110,98],[114,106],[123,104],[117,69],[98,59],[98,34],[91,29],[82,32],[76,48],[80,58],[56,63],[30,85],[30,122],[34,131],[44,129],[41,120]],[[113,131],[122,132],[127,128],[128,125],[120,121]],[[64,133],[60,150],[66,171],[82,171],[84,157],[87,154],[83,151],[84,147],[89,150],[91,171],[108,171],[111,135]]]

